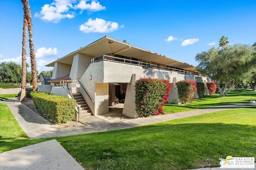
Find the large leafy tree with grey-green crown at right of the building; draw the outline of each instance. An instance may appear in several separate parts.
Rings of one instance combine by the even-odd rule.
[[[225,45],[198,53],[197,70],[217,82],[219,97],[224,97],[234,86],[234,82],[256,66],[256,49],[249,45]],[[221,88],[224,83],[224,88]]]

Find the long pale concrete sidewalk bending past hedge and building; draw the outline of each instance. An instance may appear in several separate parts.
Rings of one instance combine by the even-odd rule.
[[[82,123],[73,121],[71,122],[73,123],[73,126],[63,127],[62,125],[52,125],[38,113],[30,109],[28,106],[18,102],[18,98],[1,101],[1,103],[8,105],[8,107],[12,111],[12,114],[17,119],[18,123],[20,124],[26,135],[31,139],[62,137],[102,131],[127,129],[227,109],[256,106],[256,104],[225,105],[167,115],[126,119],[119,122],[112,122],[108,119],[102,118],[102,116],[91,116],[86,119],[82,119]]]

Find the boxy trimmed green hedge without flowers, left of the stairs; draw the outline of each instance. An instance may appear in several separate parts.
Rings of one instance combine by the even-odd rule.
[[[74,99],[44,92],[32,92],[30,94],[36,107],[57,123],[66,123],[74,119],[76,113],[76,101]]]

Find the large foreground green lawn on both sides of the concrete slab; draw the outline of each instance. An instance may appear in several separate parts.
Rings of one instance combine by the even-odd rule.
[[[0,152],[50,140],[28,139],[8,107],[0,106]],[[51,139],[86,169],[218,167],[219,158],[226,156],[256,157],[255,110],[256,106],[230,109],[131,129]]]

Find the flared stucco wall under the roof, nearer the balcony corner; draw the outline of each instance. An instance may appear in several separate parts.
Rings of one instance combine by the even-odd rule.
[[[70,70],[70,78],[77,80],[81,78],[91,63],[91,57],[83,54],[76,54],[73,59],[72,67]]]

